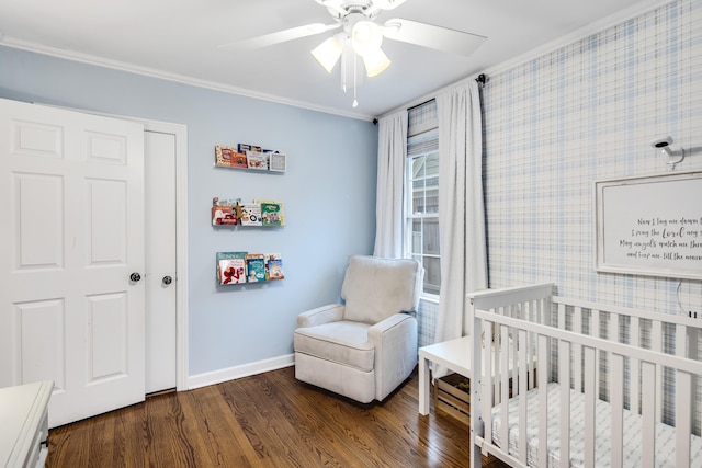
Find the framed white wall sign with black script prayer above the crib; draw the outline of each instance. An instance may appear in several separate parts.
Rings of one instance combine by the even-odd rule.
[[[702,279],[702,172],[595,183],[598,272]]]

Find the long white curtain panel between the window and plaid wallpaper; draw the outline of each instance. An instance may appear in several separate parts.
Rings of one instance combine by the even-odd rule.
[[[487,287],[478,84],[469,80],[437,96],[437,111],[441,289],[435,341],[441,342],[471,334],[465,295]]]

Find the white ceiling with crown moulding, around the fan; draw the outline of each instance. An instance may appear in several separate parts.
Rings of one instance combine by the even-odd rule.
[[[530,50],[629,18],[653,0],[408,0],[390,18],[487,36],[472,57],[395,41],[393,61],[359,87],[359,106],[312,57],[332,33],[250,53],[217,46],[313,22],[333,23],[314,0],[0,0],[0,44],[214,85],[341,115],[372,118]],[[0,65],[0,72],[1,72]]]

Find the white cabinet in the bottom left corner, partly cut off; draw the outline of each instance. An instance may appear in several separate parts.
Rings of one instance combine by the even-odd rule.
[[[0,388],[0,467],[43,467],[53,381]]]

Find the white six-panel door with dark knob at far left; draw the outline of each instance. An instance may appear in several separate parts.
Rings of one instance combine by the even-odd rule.
[[[0,100],[0,387],[49,425],[144,400],[144,129]]]

